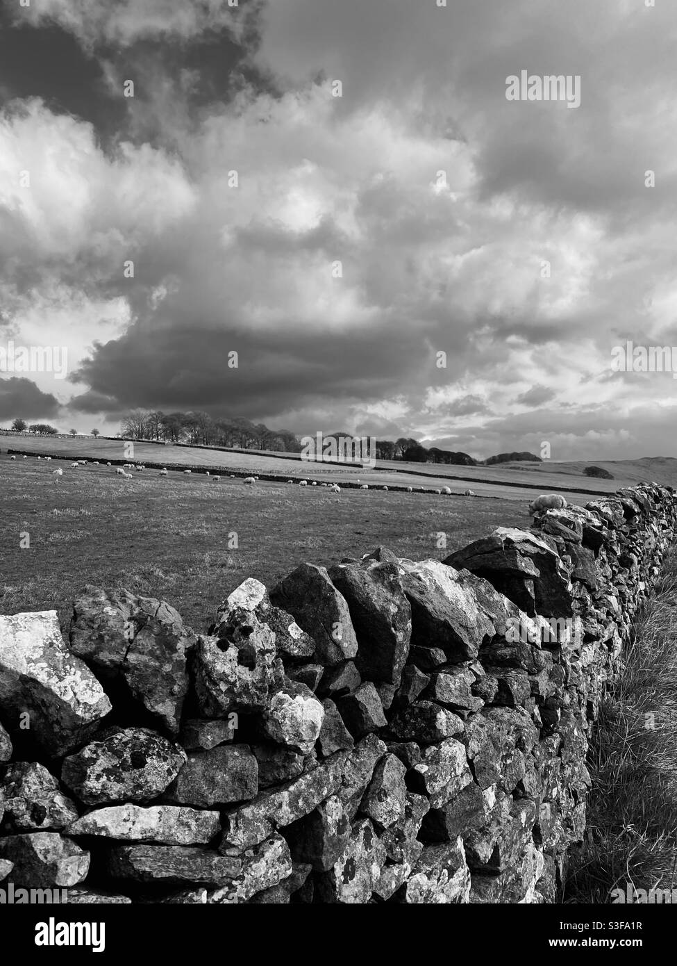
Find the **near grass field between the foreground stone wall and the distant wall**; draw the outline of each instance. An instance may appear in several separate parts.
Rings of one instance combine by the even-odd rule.
[[[320,486],[214,483],[148,469],[125,480],[105,466],[71,469],[6,453],[0,510],[0,611],[55,609],[67,627],[71,601],[89,583],[163,597],[197,630],[246,577],[272,586],[305,560],[328,565],[379,545],[439,558],[495,526],[530,521],[523,498],[336,496]],[[440,532],[447,550],[437,548]]]

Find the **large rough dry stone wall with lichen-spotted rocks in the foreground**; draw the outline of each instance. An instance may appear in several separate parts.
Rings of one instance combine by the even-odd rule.
[[[247,580],[208,635],[97,591],[0,616],[0,888],[552,902],[591,725],[677,521],[658,485]],[[62,894],[63,895],[63,894]]]

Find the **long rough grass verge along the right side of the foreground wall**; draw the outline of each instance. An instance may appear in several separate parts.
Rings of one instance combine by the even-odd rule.
[[[609,903],[628,883],[677,888],[677,553],[637,621],[587,764],[587,829],[563,901]]]

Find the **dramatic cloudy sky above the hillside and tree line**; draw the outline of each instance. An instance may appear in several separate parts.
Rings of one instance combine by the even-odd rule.
[[[647,2],[0,0],[0,425],[677,456],[672,372],[613,363],[677,370],[677,7]],[[508,99],[522,71],[578,106]]]

